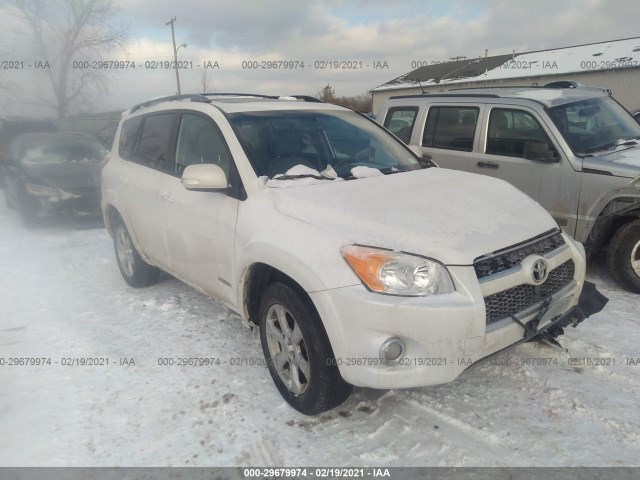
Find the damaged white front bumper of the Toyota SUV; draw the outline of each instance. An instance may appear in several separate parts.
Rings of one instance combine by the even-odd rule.
[[[558,329],[595,313],[584,302],[579,304],[585,283],[583,258],[573,256],[575,277],[564,288],[519,312],[517,321],[497,327],[486,324],[483,287],[473,267],[449,267],[456,292],[446,295],[395,297],[357,285],[310,296],[327,326],[345,381],[371,388],[422,387],[453,381],[482,359],[545,331],[555,336]],[[405,345],[394,365],[385,364],[380,354],[390,338]]]

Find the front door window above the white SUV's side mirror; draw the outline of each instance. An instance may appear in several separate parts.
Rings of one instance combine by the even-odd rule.
[[[174,173],[178,176],[188,165],[213,163],[229,178],[231,154],[218,128],[206,118],[185,113],[178,130],[178,148]]]

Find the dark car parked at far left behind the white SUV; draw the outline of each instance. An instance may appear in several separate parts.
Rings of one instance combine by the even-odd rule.
[[[26,225],[52,213],[100,213],[100,170],[107,150],[97,138],[73,133],[16,137],[2,169],[5,197]]]

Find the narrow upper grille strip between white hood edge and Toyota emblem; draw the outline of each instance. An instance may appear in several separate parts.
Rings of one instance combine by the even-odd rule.
[[[545,234],[540,240],[520,245],[514,245],[491,255],[477,258],[473,262],[473,268],[476,270],[478,280],[515,267],[529,255],[546,255],[564,245],[564,239],[560,232],[557,232],[551,235]]]

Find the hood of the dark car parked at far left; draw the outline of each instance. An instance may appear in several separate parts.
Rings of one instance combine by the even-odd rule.
[[[73,192],[100,187],[99,161],[63,163],[22,163],[24,173],[42,185]]]

